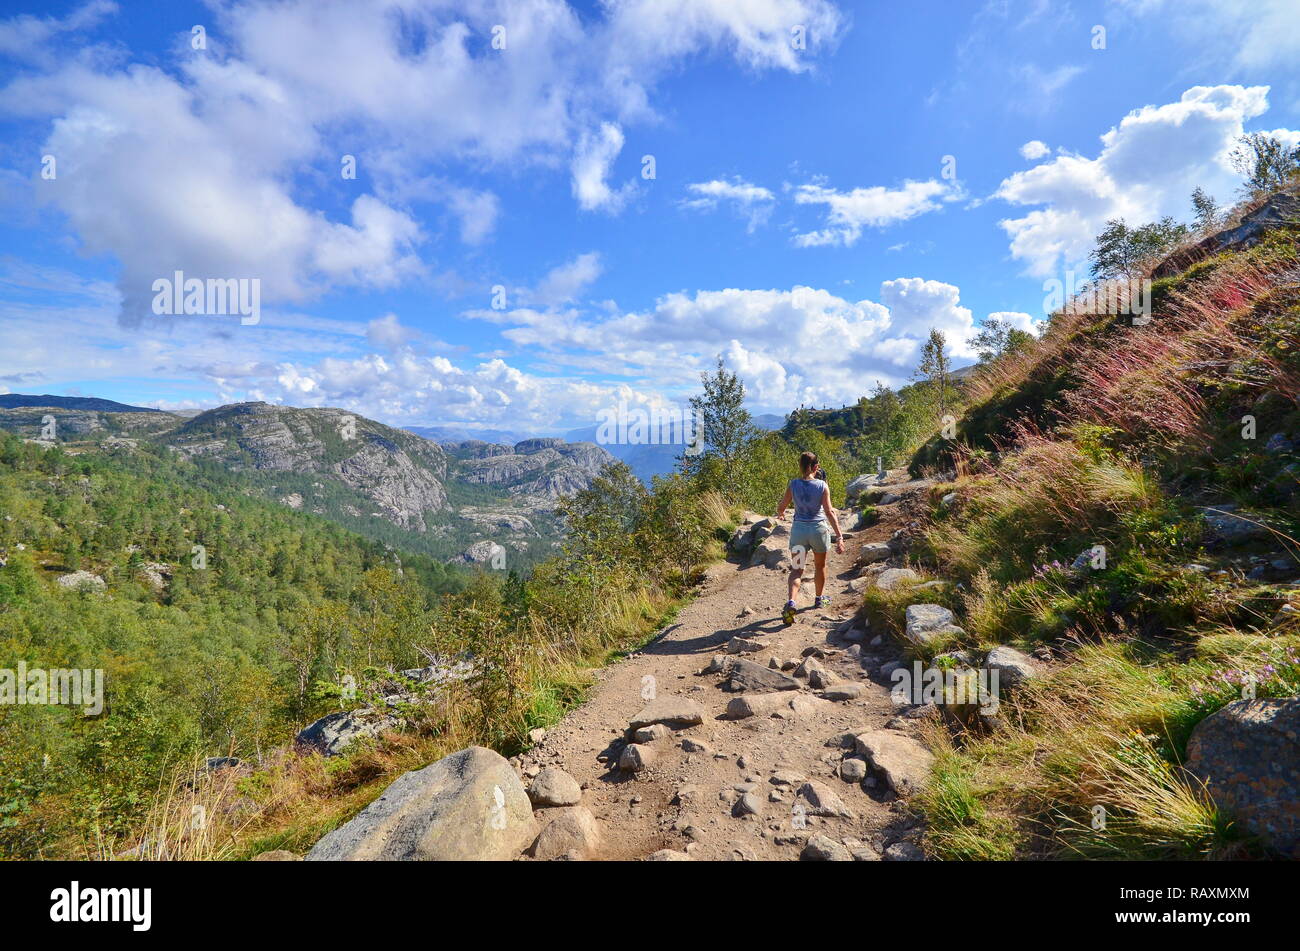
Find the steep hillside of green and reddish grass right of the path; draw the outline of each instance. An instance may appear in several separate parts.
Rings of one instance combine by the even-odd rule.
[[[913,651],[1049,659],[994,721],[935,728],[936,856],[1266,854],[1179,765],[1247,685],[1300,690],[1300,624],[1282,612],[1300,602],[1297,274],[1290,225],[1154,282],[1147,323],[1054,314],[975,374],[957,439],[916,452],[918,472],[958,472],[914,556],[950,582],[939,600],[965,633]],[[923,600],[868,609],[897,630]]]

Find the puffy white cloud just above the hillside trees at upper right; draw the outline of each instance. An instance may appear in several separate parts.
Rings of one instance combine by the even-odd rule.
[[[1139,223],[1186,217],[1197,186],[1230,199],[1239,183],[1228,156],[1247,122],[1268,109],[1266,86],[1196,86],[1175,103],[1144,105],[1101,136],[1095,158],[1058,155],[1017,171],[996,197],[1039,205],[1001,221],[1011,256],[1048,277],[1086,260],[1109,218]]]

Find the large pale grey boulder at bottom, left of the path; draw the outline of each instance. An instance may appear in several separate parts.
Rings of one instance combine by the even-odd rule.
[[[398,777],[307,861],[486,861],[519,856],[537,835],[523,783],[499,754],[472,746]]]

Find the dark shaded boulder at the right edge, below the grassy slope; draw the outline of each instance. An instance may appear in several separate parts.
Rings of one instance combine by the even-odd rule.
[[[1234,700],[1205,717],[1187,769],[1249,831],[1300,859],[1300,699]]]

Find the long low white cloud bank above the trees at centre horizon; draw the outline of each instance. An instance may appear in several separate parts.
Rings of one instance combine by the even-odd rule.
[[[841,404],[879,381],[907,381],[931,329],[952,353],[972,357],[975,321],[953,285],[898,278],[879,300],[846,300],[814,287],[701,290],[659,298],[612,316],[573,309],[472,311],[503,325],[520,349],[549,356],[572,374],[624,375],[663,392],[690,392],[718,355],[741,373],[755,403],[785,411]]]

